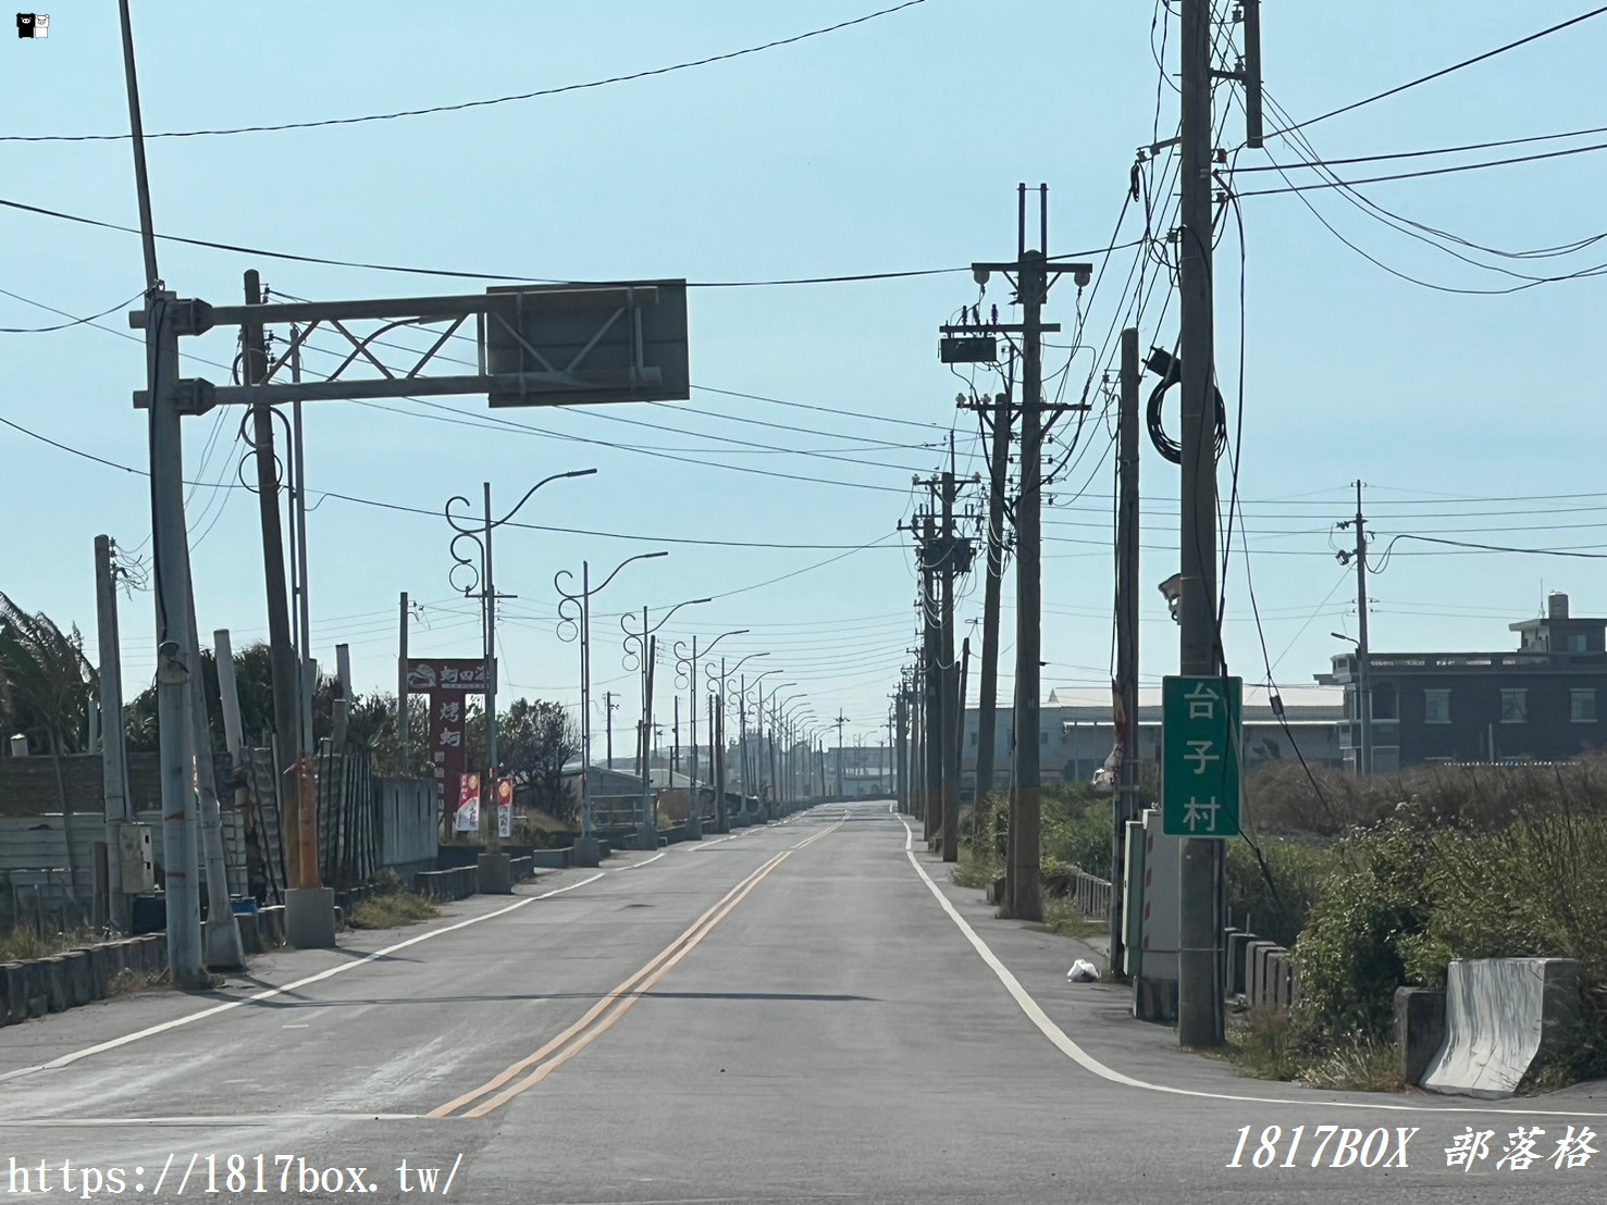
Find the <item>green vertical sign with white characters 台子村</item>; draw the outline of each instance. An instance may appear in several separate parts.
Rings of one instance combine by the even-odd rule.
[[[1239,835],[1241,678],[1165,678],[1160,813],[1173,837]]]

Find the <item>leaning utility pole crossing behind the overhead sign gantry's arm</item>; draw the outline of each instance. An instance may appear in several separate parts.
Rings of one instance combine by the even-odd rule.
[[[246,305],[262,304],[262,278],[256,268],[246,272]],[[268,378],[268,345],[262,323],[247,321],[241,328],[241,378],[247,386]],[[281,832],[284,832],[286,884],[301,885],[301,792],[292,770],[302,752],[301,742],[301,673],[296,644],[291,638],[289,586],[284,582],[284,529],[280,522],[280,472],[273,450],[273,406],[251,405],[252,448],[257,453],[257,513],[262,522],[262,577],[268,596],[268,665],[273,681],[273,734],[278,737]]]

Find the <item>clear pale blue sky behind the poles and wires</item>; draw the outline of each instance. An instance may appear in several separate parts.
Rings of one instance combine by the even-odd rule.
[[[482,0],[444,10],[288,2],[249,16],[178,0],[133,8],[146,130],[166,132],[580,84],[791,37],[876,5]],[[1585,6],[1270,0],[1265,8],[1268,90],[1305,119]],[[125,132],[116,5],[56,3],[50,14],[47,42],[11,40],[0,51],[0,135]],[[1157,88],[1160,137],[1176,124],[1176,93],[1154,59],[1162,26],[1152,29],[1152,16],[1138,0],[1000,0],[985,10],[926,0],[794,45],[566,95],[358,125],[153,140],[156,227],[313,257],[530,278],[746,281],[1003,259],[1014,252],[1017,182],[1046,182],[1051,254],[1096,249],[1112,241],[1135,149],[1154,140]],[[1170,79],[1176,18],[1163,24]],[[1607,18],[1306,133],[1334,159],[1607,125],[1604,58]],[[1218,111],[1229,104],[1223,85]],[[1281,124],[1268,116],[1268,129]],[[1223,145],[1239,146],[1236,108],[1225,130]],[[1360,178],[1591,141],[1601,137],[1342,172]],[[1282,164],[1306,157],[1273,138],[1266,154],[1245,149],[1236,164],[1263,167],[1268,154]],[[1163,165],[1152,167],[1157,210],[1170,201]],[[127,141],[0,141],[0,198],[8,201],[135,225],[132,177]],[[1270,170],[1236,175],[1241,193],[1282,183]],[[1578,154],[1363,191],[1470,241],[1530,249],[1597,235],[1604,185],[1607,156]],[[1396,272],[1454,288],[1520,283],[1387,230],[1332,190],[1305,196],[1340,235]],[[1143,233],[1139,209],[1125,210],[1117,241]],[[1601,341],[1602,278],[1511,296],[1451,294],[1374,267],[1294,194],[1245,196],[1242,212],[1241,492],[1266,657],[1236,548],[1226,620],[1234,672],[1260,683],[1271,660],[1294,701],[1343,647],[1329,633],[1355,631],[1355,578],[1332,554],[1348,535],[1332,524],[1348,516],[1348,482],[1358,477],[1368,482],[1380,549],[1393,535],[1425,533],[1607,551],[1597,455],[1604,386],[1589,353]],[[1155,225],[1163,231],[1159,214]],[[1094,416],[1073,447],[1051,448],[1057,458],[1069,451],[1070,468],[1051,490],[1045,522],[1045,691],[1056,688],[1069,701],[1107,697],[1099,683],[1110,662],[1112,456],[1098,370],[1114,347],[1107,331],[1128,310],[1122,288],[1136,255],[1114,252],[1107,278],[1083,297],[1086,347],[1049,353],[1053,373],[1067,370],[1051,378],[1056,387],[1064,379],[1067,398],[1094,373]],[[1552,275],[1607,254],[1597,244],[1543,260],[1478,259]],[[272,289],[313,299],[482,288],[161,247],[169,286],[215,304],[239,300],[241,273],[251,267]],[[1146,347],[1170,345],[1176,305],[1167,302],[1163,268],[1147,272],[1162,280],[1141,337]],[[1239,236],[1231,222],[1216,280],[1218,378],[1236,403]],[[84,317],[133,297],[141,283],[137,238],[0,212],[0,289],[14,294],[0,294],[0,326],[58,320],[19,299]],[[540,477],[596,468],[596,477],[543,490],[521,519],[625,538],[535,530],[498,538],[498,586],[519,596],[506,604],[501,628],[508,694],[579,702],[575,649],[554,635],[556,570],[579,570],[588,559],[595,575],[606,575],[625,556],[670,548],[665,559],[627,569],[599,611],[714,594],[712,604],[675,615],[664,635],[696,631],[707,641],[750,628],[722,649],[770,651],[762,664],[779,670],[770,683],[797,681],[787,694],[807,694],[816,717],[840,712],[850,739],[869,734],[884,723],[913,644],[913,562],[895,530],[916,504],[911,476],[938,466],[951,429],[963,472],[982,468],[974,421],[953,406],[966,386],[935,357],[935,326],[975,296],[964,270],[694,289],[691,402],[497,413],[527,427],[517,431],[487,426],[484,398],[474,397],[447,400],[456,416],[410,402],[315,403],[307,408],[309,485],[315,500],[328,488],[437,509],[455,493],[477,500],[487,479],[498,503],[511,504]],[[995,284],[985,304],[1006,300]],[[1078,317],[1070,281],[1056,288],[1046,317],[1064,325],[1059,339],[1070,344]],[[143,466],[143,416],[130,405],[130,390],[143,384],[143,352],[119,337],[129,334],[121,310],[101,326],[108,329],[0,336],[0,418]],[[212,333],[186,341],[185,350],[228,363],[233,336]],[[307,370],[333,363],[309,353]],[[223,379],[214,366],[186,371]],[[992,392],[995,382],[979,374],[975,386]],[[233,411],[188,421],[188,476],[236,480],[236,423]],[[1149,588],[1175,570],[1176,472],[1147,447],[1143,488],[1144,672],[1152,683],[1176,657],[1165,602]],[[93,652],[93,537],[109,532],[125,548],[146,540],[143,479],[0,427],[0,508],[8,514],[0,588],[77,622]],[[264,635],[256,498],[199,488],[190,519],[202,631],[228,627],[236,646]],[[427,607],[429,627],[413,630],[416,652],[474,654],[474,606],[453,598],[447,537],[439,517],[337,500],[317,506],[309,551],[320,657],[333,664],[334,644],[346,641],[357,684],[389,688],[402,590]],[[1401,541],[1371,582],[1374,647],[1506,647],[1506,623],[1535,614],[1544,590],[1568,591],[1578,614],[1607,612],[1607,572],[1596,559]],[[980,615],[980,580],[963,593],[961,617]],[[1006,586],[1006,604],[1012,593]],[[149,594],[125,601],[122,614],[132,694],[153,670]],[[598,691],[632,692],[617,619],[599,619],[595,631]],[[669,668],[659,681],[657,715],[667,720]],[[624,699],[615,725],[628,726],[636,713],[635,697]]]

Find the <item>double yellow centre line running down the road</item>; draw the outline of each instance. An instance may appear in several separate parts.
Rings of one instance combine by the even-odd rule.
[[[847,819],[847,816],[844,816],[844,819]],[[501,1109],[521,1093],[535,1088],[551,1072],[580,1054],[580,1051],[596,1041],[614,1025],[614,1022],[625,1015],[625,1012],[628,1012],[636,1001],[643,998],[643,995],[664,978],[677,962],[686,958],[686,954],[691,953],[691,950],[702,942],[717,924],[730,916],[731,909],[742,903],[742,900],[747,898],[747,893],[752,892],[765,879],[765,876],[776,869],[776,866],[807,845],[813,845],[821,837],[831,835],[839,827],[842,827],[842,821],[837,821],[829,829],[816,832],[808,840],[799,842],[791,850],[778,853],[726,892],[714,908],[699,916],[685,933],[660,950],[652,961],[641,967],[641,970],[633,974],[624,983],[604,995],[596,1004],[587,1009],[580,1020],[534,1054],[529,1054],[506,1070],[498,1072],[474,1091],[464,1093],[453,1101],[447,1101],[447,1104],[439,1109],[432,1109],[427,1117],[485,1117],[492,1110]]]

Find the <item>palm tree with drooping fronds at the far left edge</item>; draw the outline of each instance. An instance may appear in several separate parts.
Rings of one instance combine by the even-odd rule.
[[[42,736],[56,774],[56,802],[67,844],[67,893],[77,900],[72,810],[61,778],[61,755],[88,744],[88,709],[98,675],[84,656],[74,625],[63,631],[43,612],[29,614],[0,593],[0,721],[5,731]]]

